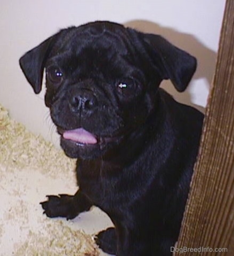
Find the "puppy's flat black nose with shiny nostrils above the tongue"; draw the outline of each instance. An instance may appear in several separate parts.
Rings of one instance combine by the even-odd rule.
[[[69,99],[71,112],[92,112],[97,103],[93,92],[85,89],[73,91]]]

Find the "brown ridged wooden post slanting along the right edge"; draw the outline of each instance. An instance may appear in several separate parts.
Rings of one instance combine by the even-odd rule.
[[[197,252],[184,249],[181,254],[179,250],[184,246]],[[213,87],[176,247],[174,255],[178,256],[234,255],[233,0],[227,0],[225,6]],[[210,252],[222,248],[227,248],[228,252]]]

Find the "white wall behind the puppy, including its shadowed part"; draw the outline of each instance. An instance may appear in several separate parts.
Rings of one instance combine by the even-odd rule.
[[[0,104],[31,131],[58,141],[43,103],[34,95],[18,59],[60,28],[94,20],[111,20],[144,32],[162,34],[198,59],[197,72],[187,91],[176,99],[206,105],[219,44],[224,0],[1,0]]]

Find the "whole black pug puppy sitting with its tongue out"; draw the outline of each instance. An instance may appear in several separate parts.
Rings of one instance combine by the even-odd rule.
[[[48,196],[49,217],[92,205],[115,225],[96,243],[118,256],[171,255],[179,235],[203,114],[159,84],[188,86],[196,59],[159,35],[111,22],[61,30],[20,59],[67,156],[78,159],[75,196]]]

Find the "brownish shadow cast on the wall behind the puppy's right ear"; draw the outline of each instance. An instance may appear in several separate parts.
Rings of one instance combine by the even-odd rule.
[[[216,63],[216,52],[207,48],[204,44],[199,42],[196,37],[177,32],[172,28],[162,27],[154,22],[146,20],[133,20],[125,23],[125,26],[135,28],[144,33],[159,34],[165,37],[172,44],[177,47],[189,52],[191,55],[195,56],[198,61],[197,71],[193,76],[193,81],[196,79],[205,79],[207,89],[210,89]],[[184,104],[195,106],[201,112],[204,112],[204,107],[195,105],[191,101],[191,93],[189,89],[185,90],[182,94],[177,92],[172,86],[170,81],[164,81],[162,86],[170,94],[175,96],[175,98]]]

